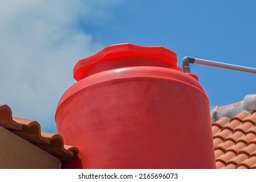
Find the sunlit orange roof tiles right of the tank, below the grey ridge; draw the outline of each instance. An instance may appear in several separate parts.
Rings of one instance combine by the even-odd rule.
[[[256,168],[256,110],[212,123],[217,168]]]

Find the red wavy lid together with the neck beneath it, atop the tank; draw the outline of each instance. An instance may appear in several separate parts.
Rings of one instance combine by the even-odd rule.
[[[130,66],[157,66],[181,71],[176,53],[165,47],[116,44],[79,60],[74,67],[74,79],[79,81],[95,73]]]

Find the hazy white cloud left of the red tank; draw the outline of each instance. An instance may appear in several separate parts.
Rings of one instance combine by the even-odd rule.
[[[103,47],[78,31],[78,21],[102,23],[117,1],[5,1],[0,6],[0,103],[14,116],[53,131],[54,113],[75,83],[76,62]]]

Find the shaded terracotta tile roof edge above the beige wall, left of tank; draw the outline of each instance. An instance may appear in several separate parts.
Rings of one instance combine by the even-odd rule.
[[[36,121],[12,117],[8,105],[0,105],[0,125],[62,161],[70,161],[78,155],[79,149],[64,145],[61,135],[42,132]]]

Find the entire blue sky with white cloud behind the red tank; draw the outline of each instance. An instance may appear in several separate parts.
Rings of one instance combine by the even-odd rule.
[[[256,1],[6,1],[0,7],[0,103],[55,132],[54,114],[79,59],[111,44],[162,45],[185,56],[256,68]],[[192,65],[211,109],[256,94],[256,75]]]

